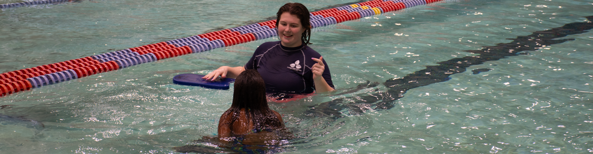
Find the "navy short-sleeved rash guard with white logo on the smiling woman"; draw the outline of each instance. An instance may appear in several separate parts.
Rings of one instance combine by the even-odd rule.
[[[262,75],[267,93],[313,93],[315,83],[311,67],[317,62],[311,58],[319,57],[321,55],[305,43],[290,48],[282,46],[280,41],[264,42],[244,67],[255,69]],[[325,60],[323,64],[325,70],[321,76],[334,88],[330,68]]]

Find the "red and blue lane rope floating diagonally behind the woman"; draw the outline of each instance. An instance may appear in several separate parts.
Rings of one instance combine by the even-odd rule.
[[[66,1],[68,0],[21,2],[15,4],[3,4],[0,5],[0,8],[52,4]],[[344,21],[397,11],[399,9],[410,8],[417,5],[430,4],[437,1],[442,0],[374,0],[340,6],[337,8],[324,9],[310,13],[311,27],[324,27]],[[106,71],[118,70],[165,58],[191,53],[201,53],[215,48],[228,47],[244,42],[275,37],[278,35],[275,28],[276,20],[274,19],[259,22],[257,24],[229,28],[227,30],[208,32],[206,34],[158,42],[156,44],[148,44],[141,47],[62,61],[60,63],[9,71],[0,74],[0,97],[17,93],[19,91],[26,91],[32,88],[39,88],[50,84],[61,83],[63,81],[91,76]]]

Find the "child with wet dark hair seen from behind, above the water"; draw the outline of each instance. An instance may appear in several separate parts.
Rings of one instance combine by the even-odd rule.
[[[244,136],[243,143],[253,135],[284,129],[282,116],[270,110],[266,100],[266,83],[257,70],[245,70],[235,79],[231,107],[218,123],[218,137],[229,141],[231,136]],[[257,142],[257,141],[255,141]]]

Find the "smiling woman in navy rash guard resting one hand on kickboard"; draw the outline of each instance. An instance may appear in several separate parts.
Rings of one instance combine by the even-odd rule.
[[[260,45],[243,67],[222,66],[203,78],[235,78],[244,70],[257,70],[266,82],[267,93],[308,94],[334,90],[326,61],[308,46],[311,24],[307,7],[287,3],[276,15],[280,41]]]

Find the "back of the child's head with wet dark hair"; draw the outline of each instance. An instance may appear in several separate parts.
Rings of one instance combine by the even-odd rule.
[[[235,79],[232,107],[267,109],[266,83],[257,70],[245,70]]]

